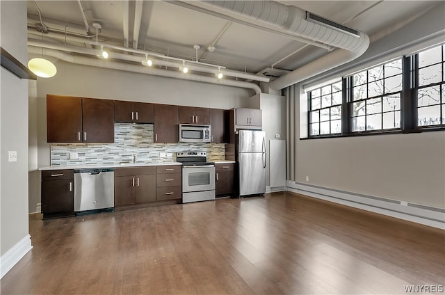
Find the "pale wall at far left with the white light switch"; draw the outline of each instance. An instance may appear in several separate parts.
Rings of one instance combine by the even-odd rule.
[[[1,47],[27,63],[26,1],[0,1]],[[11,29],[13,28],[13,30]],[[1,67],[0,100],[1,274],[31,248],[28,228],[28,80]],[[17,161],[8,162],[8,151]],[[24,241],[26,247],[17,249]],[[12,254],[11,254],[12,253]],[[8,265],[6,265],[8,264]]]

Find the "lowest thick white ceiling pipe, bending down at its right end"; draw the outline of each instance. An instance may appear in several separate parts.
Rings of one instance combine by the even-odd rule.
[[[31,54],[42,54],[42,49],[38,47],[28,47]],[[198,74],[183,74],[181,72],[162,70],[154,67],[140,67],[138,65],[129,65],[115,61],[103,61],[98,58],[88,58],[85,56],[74,56],[72,54],[65,54],[58,50],[45,49],[44,55],[53,56],[68,63],[76,63],[78,65],[89,65],[93,67],[103,67],[112,70],[122,70],[126,72],[137,72],[141,74],[152,74],[161,77],[168,77],[174,79],[183,79],[188,81],[198,81],[204,83],[213,83],[225,86],[233,86],[239,88],[252,89],[256,94],[261,93],[261,88],[255,83],[248,83],[243,81],[234,81],[228,79],[217,79],[216,77],[204,77]]]

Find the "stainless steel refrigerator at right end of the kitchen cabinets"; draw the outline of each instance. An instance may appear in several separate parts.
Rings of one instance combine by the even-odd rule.
[[[266,132],[239,130],[236,134],[237,196],[266,193]]]

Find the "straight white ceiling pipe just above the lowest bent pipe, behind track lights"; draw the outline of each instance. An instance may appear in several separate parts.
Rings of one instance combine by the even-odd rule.
[[[88,49],[88,48],[81,48],[76,47],[72,45],[63,45],[63,44],[56,44],[54,42],[49,42],[45,40],[37,40],[37,39],[28,39],[28,45],[33,47],[42,47],[47,49],[54,49],[54,50],[60,50],[60,51],[69,51],[74,52],[78,54],[88,54],[91,56],[99,56],[101,54],[101,50],[99,49]],[[120,59],[123,61],[131,61],[134,63],[141,63],[145,60],[145,56],[136,56],[131,54],[121,54],[118,52],[109,52],[110,58]],[[96,57],[97,58],[97,57]],[[165,67],[175,67],[179,68],[182,63],[177,63],[175,61],[164,61],[161,59],[156,59],[153,61],[154,65],[161,65]],[[186,63],[187,67],[191,71],[195,72],[205,72],[209,74],[215,74],[219,70],[214,67],[201,67],[197,65],[197,63],[190,61]],[[139,67],[143,67],[143,65],[138,65]],[[232,70],[221,70],[221,72],[227,76],[227,77],[236,77],[241,79],[250,79],[253,81],[261,81],[261,82],[268,82],[270,79],[268,77],[259,76],[256,74],[246,74],[244,72],[236,72]]]

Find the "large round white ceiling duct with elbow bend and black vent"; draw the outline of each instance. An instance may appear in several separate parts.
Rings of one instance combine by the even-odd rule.
[[[332,47],[334,51],[307,63],[270,82],[273,89],[282,89],[293,85],[316,74],[321,74],[364,54],[369,47],[369,37],[366,33],[348,28],[342,24],[332,22],[318,15],[314,15],[296,6],[286,6],[275,1],[199,1],[190,2],[192,5],[213,7],[218,12],[238,15],[254,22],[264,22],[268,26],[287,33],[321,42]]]

